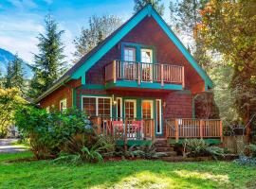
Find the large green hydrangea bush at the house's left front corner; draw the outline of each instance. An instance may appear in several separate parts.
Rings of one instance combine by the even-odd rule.
[[[93,132],[89,120],[78,110],[46,112],[33,106],[20,108],[15,113],[18,129],[30,141],[37,159],[56,157],[73,135]]]

